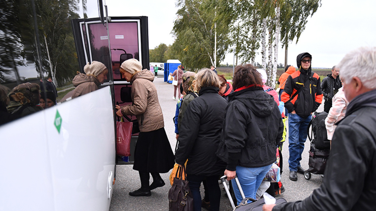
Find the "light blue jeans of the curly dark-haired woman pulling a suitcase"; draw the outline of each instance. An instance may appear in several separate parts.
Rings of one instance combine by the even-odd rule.
[[[241,189],[243,189],[244,196],[256,199],[257,189],[260,187],[262,179],[270,170],[272,164],[256,168],[236,167],[236,175],[238,176]],[[237,203],[239,204],[243,199],[235,179],[232,179],[232,188],[235,193]]]

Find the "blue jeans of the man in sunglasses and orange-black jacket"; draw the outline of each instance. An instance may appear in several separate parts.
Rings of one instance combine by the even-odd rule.
[[[312,116],[303,118],[297,114],[288,113],[288,164],[290,171],[297,171],[302,160],[304,143],[307,140],[307,127]]]

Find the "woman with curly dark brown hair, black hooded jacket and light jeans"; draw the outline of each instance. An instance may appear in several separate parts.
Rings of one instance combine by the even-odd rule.
[[[276,161],[284,125],[277,103],[262,88],[261,74],[254,66],[237,66],[232,81],[234,92],[229,95],[223,122],[224,142],[217,154],[227,161],[227,179],[237,175],[244,195],[255,198]],[[237,185],[232,187],[239,204],[241,194]]]

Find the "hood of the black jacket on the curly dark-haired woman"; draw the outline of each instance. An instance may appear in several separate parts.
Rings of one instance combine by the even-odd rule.
[[[261,88],[262,89],[262,88]],[[233,92],[229,95],[229,101],[238,100],[258,117],[270,116],[276,105],[273,96],[258,87]]]

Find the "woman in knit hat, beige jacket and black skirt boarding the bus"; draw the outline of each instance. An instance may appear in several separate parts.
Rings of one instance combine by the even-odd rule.
[[[135,148],[133,169],[138,170],[141,188],[129,192],[130,196],[150,196],[150,190],[162,187],[165,182],[159,173],[167,173],[174,167],[175,157],[164,130],[161,106],[157,89],[153,83],[154,75],[136,59],[128,59],[120,66],[123,77],[132,83],[132,104],[116,105],[117,115],[134,115],[140,133]],[[150,175],[153,183],[149,186]]]

